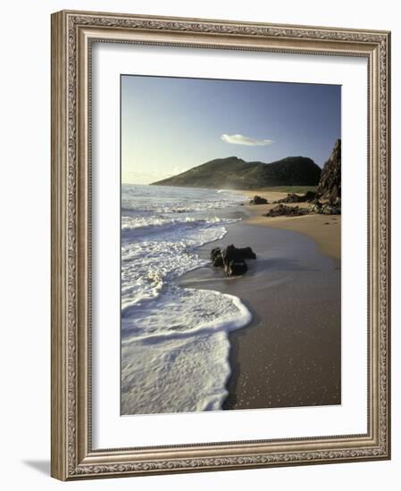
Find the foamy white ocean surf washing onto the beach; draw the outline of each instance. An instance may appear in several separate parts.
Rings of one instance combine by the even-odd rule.
[[[121,414],[220,410],[230,330],[251,314],[240,299],[182,287],[207,265],[245,196],[226,190],[121,187]]]

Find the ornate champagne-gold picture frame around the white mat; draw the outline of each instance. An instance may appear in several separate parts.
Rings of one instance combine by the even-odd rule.
[[[362,57],[368,66],[367,432],[92,445],[91,50],[94,43]],[[52,464],[56,479],[390,458],[390,33],[101,12],[52,15]],[[361,320],[363,321],[363,320]]]

